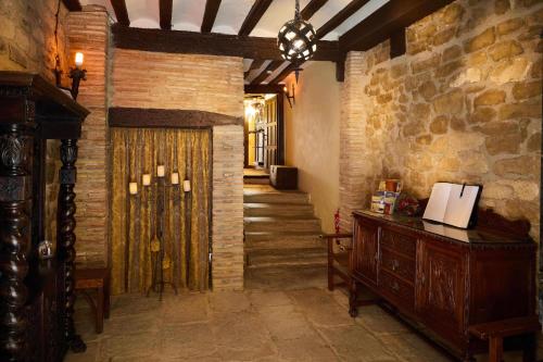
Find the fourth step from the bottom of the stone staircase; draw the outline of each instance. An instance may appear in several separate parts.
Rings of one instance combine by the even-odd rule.
[[[248,216],[243,217],[243,229],[245,232],[313,232],[320,233],[320,221],[316,217],[292,219]]]

